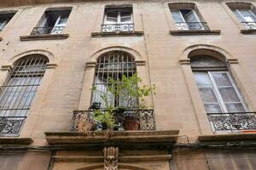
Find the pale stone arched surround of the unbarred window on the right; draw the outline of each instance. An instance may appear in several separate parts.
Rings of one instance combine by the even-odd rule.
[[[194,54],[193,54],[194,53]],[[250,110],[255,110],[255,90],[249,85],[250,80],[243,73],[241,66],[239,65],[238,59],[234,58],[232,54],[224,50],[223,48],[218,48],[212,45],[192,45],[183,50],[183,54],[179,58],[179,63],[183,68],[183,74],[189,88],[189,94],[192,99],[192,103],[195,109],[195,116],[197,118],[199,129],[201,134],[212,134],[212,129],[210,127],[207,112],[201,100],[201,95],[196,86],[195,77],[190,67],[189,57],[193,57],[196,54],[207,54],[217,59],[224,61],[230,70],[230,74],[236,82],[236,86],[240,88],[241,94],[244,96],[248,108]]]

